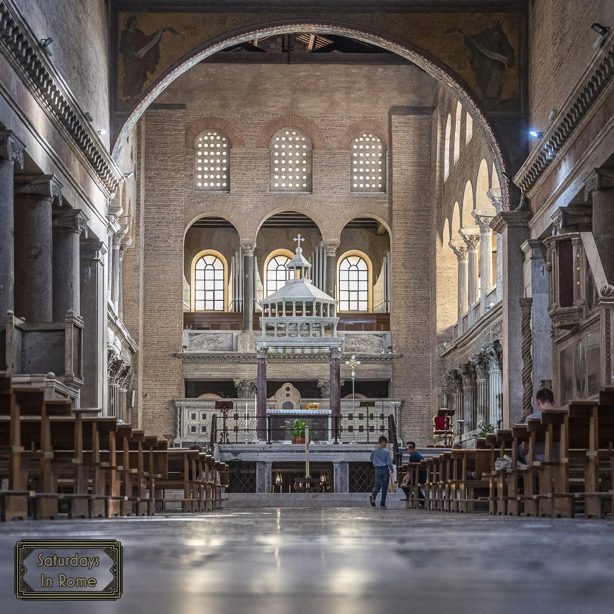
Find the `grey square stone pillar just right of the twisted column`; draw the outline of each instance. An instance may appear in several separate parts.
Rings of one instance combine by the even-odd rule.
[[[548,270],[542,252],[542,242],[529,239],[522,245],[524,252],[524,287],[533,299],[531,313],[531,356],[533,360],[533,389],[542,379],[552,379],[552,321],[548,314]]]

